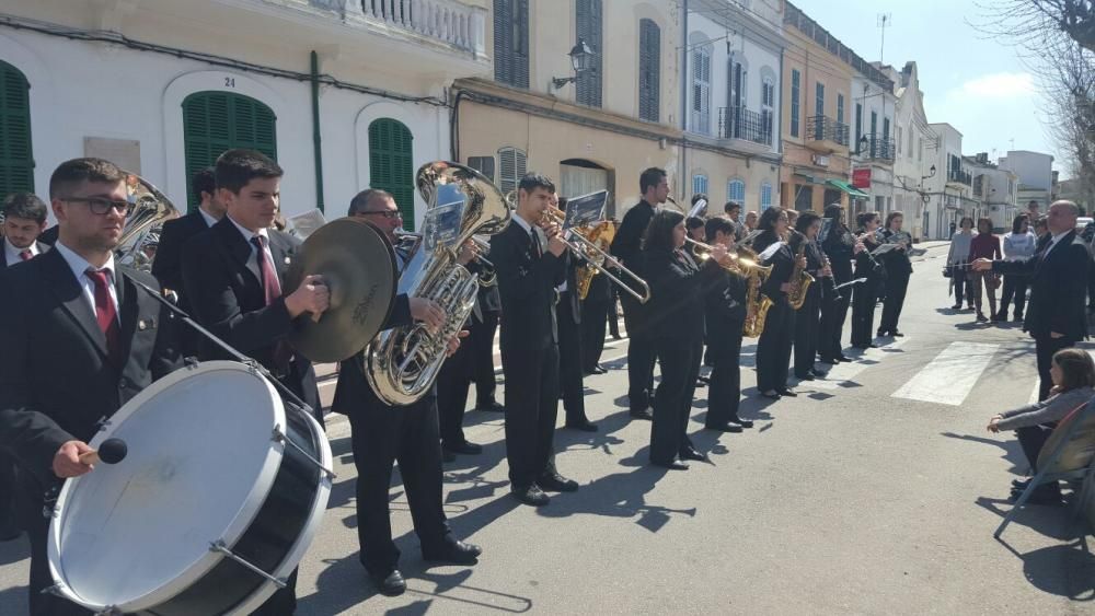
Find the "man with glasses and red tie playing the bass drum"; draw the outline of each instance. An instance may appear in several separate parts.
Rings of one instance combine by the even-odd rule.
[[[62,163],[49,181],[54,249],[2,270],[0,451],[20,461],[20,503],[31,537],[34,615],[89,614],[42,591],[53,585],[43,492],[92,470],[80,462],[101,418],[178,364],[166,311],[137,288],[155,279],[116,266],[129,211],[126,176],[102,159]]]

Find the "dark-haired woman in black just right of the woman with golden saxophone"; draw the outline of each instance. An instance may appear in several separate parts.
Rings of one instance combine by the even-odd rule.
[[[795,376],[799,381],[812,381],[817,376],[825,376],[825,372],[814,367],[817,358],[818,339],[821,328],[821,284],[823,276],[829,276],[831,270],[825,266],[821,248],[818,246],[818,232],[821,231],[821,217],[807,211],[799,214],[795,221],[795,237],[798,244],[792,241],[793,252],[797,255],[800,244],[805,243],[806,257],[805,271],[814,277],[815,282],[806,290],[806,300],[803,305],[795,311]]]

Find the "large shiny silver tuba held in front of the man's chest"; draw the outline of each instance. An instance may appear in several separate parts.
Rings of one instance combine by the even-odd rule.
[[[392,406],[406,406],[426,395],[445,362],[449,340],[475,305],[480,278],[457,263],[460,246],[476,234],[500,232],[512,216],[509,202],[489,179],[459,163],[427,163],[415,183],[426,201],[427,222],[403,268],[399,292],[437,302],[446,319],[438,332],[422,323],[381,332],[365,350],[366,379]],[[446,228],[451,236],[446,236]]]

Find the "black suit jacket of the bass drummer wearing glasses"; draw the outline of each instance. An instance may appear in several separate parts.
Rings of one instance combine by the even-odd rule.
[[[0,270],[0,288],[20,298],[0,302],[0,449],[41,488],[56,480],[53,458],[61,444],[87,442],[101,418],[178,367],[176,323],[127,276],[155,287],[147,274],[116,270],[124,359],[116,367],[106,359],[94,310],[59,252]]]

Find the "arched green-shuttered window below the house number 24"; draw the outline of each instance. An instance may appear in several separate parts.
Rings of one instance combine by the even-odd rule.
[[[258,150],[277,160],[277,118],[269,107],[242,94],[196,92],[183,101],[183,148],[186,177],[217,162],[232,148]],[[186,183],[191,209],[200,202]]]

